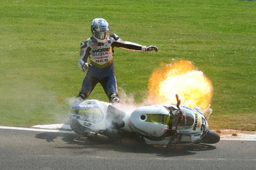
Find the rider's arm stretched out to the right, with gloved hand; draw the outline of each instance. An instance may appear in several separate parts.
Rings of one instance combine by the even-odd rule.
[[[119,47],[127,50],[135,50],[135,51],[140,51],[142,53],[149,52],[152,50],[155,50],[156,52],[158,51],[158,48],[153,45],[146,47],[136,43],[132,43],[130,41],[123,41],[115,33],[113,35],[110,35],[110,37],[113,38],[113,43],[111,44],[112,47]]]

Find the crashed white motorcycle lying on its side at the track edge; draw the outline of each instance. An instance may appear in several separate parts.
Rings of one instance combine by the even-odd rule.
[[[71,107],[70,128],[88,138],[130,138],[148,145],[219,142],[219,134],[209,130],[201,109],[180,105],[176,97],[177,104],[143,106],[131,113],[103,101],[85,100]]]

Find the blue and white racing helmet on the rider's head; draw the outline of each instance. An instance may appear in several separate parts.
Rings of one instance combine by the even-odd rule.
[[[103,43],[109,35],[108,22],[103,18],[95,18],[91,24],[92,38],[98,43]]]

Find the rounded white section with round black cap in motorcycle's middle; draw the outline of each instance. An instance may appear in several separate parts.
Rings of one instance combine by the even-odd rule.
[[[158,121],[150,120],[150,117],[157,115]],[[169,128],[162,121],[170,113],[161,105],[139,107],[133,111],[128,122],[132,131],[149,137],[161,137]]]

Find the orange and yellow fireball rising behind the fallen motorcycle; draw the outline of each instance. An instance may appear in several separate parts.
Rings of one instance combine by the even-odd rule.
[[[213,88],[202,71],[190,61],[181,60],[156,69],[149,79],[148,90],[155,104],[175,104],[178,94],[183,105],[198,106],[204,111],[210,107]]]

